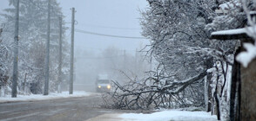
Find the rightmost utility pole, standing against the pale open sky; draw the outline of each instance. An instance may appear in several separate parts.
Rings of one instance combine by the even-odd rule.
[[[75,8],[72,8],[72,26],[71,26],[71,76],[70,76],[70,94],[73,94],[74,77],[74,29],[75,29]]]

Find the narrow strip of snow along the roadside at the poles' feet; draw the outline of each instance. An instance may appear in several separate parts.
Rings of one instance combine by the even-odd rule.
[[[92,94],[91,92],[75,91],[75,92],[73,92],[73,94],[69,94],[69,92],[62,92],[62,93],[51,92],[51,93],[49,93],[49,95],[43,95],[43,94],[21,95],[21,94],[17,94],[17,98],[11,98],[11,95],[6,95],[5,97],[0,97],[0,103],[47,100],[47,99],[77,98],[77,97],[90,96],[91,94]]]

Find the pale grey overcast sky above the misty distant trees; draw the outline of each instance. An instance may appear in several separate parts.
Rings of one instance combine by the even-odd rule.
[[[139,25],[140,13],[145,10],[146,0],[57,0],[63,8],[65,21],[71,22],[71,8],[76,9],[76,29],[91,31],[105,35],[122,35],[141,37]],[[1,12],[9,7],[8,0],[0,0]],[[71,28],[71,23],[66,27]],[[71,31],[66,36],[70,40]],[[75,49],[102,51],[104,48],[116,47],[126,49],[133,54],[140,45],[148,44],[148,40],[113,38],[99,35],[75,33]]]

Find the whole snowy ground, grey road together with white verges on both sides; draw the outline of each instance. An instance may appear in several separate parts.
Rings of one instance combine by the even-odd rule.
[[[6,96],[0,98],[0,120],[217,121],[216,116],[205,111],[138,113],[104,109],[101,101],[100,94],[89,92]]]

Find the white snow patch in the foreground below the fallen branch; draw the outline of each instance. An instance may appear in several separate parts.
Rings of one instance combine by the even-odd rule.
[[[121,114],[118,118],[123,121],[217,121],[215,115],[205,111],[158,111],[152,114]]]

